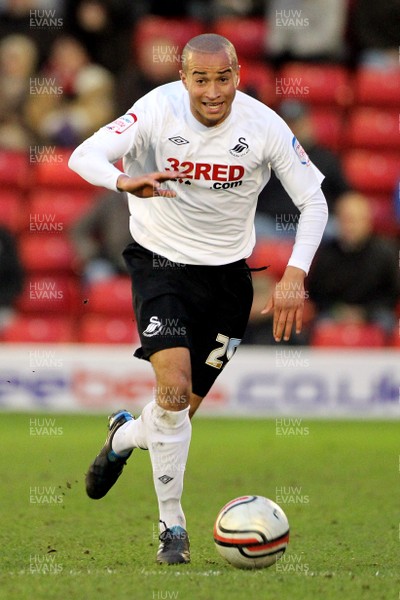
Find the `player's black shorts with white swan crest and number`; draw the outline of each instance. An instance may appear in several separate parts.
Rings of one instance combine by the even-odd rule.
[[[149,357],[167,348],[190,350],[192,391],[204,397],[239,345],[253,301],[245,260],[221,266],[174,263],[133,242],[123,252],[133,306]]]

